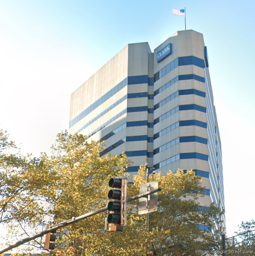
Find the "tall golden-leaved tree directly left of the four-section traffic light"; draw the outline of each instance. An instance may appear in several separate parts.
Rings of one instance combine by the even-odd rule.
[[[109,154],[100,158],[101,143],[88,143],[86,139],[86,136],[70,135],[66,131],[58,134],[52,147],[47,164],[56,171],[56,175],[48,200],[55,223],[105,207],[108,180],[122,176],[129,165],[125,155]],[[93,216],[64,228],[58,244],[64,247],[70,244],[75,248],[67,250],[81,248],[84,254],[85,248],[90,248],[90,241],[95,243],[85,238],[93,237],[104,227],[102,216]]]

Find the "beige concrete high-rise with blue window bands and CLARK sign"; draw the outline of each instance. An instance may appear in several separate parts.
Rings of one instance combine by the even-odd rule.
[[[163,174],[193,169],[203,177],[202,205],[224,208],[221,142],[203,35],[178,31],[151,52],[128,44],[71,96],[71,133],[104,140],[134,164]],[[224,216],[223,227],[225,226]]]

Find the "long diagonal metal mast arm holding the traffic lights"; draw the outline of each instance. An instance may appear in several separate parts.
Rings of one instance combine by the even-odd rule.
[[[151,191],[149,191],[149,192],[145,192],[145,193],[140,194],[140,195],[137,195],[137,196],[129,197],[129,198],[127,198],[127,202],[131,202],[131,201],[137,200],[137,199],[139,199],[139,198],[141,198],[141,197],[146,197],[146,196],[148,196],[148,195],[151,195],[151,194],[156,193],[156,192],[159,192],[159,191],[161,191],[161,188],[160,188],[160,187],[159,187],[158,189],[154,189],[154,190],[151,190]],[[40,233],[37,233],[37,234],[35,234],[35,235],[33,235],[33,236],[29,236],[28,238],[24,238],[24,239],[18,241],[17,243],[6,247],[5,249],[3,249],[3,250],[0,251],[0,254],[1,254],[1,253],[4,253],[4,252],[6,252],[6,251],[9,251],[9,250],[11,250],[11,249],[13,249],[13,248],[15,248],[15,247],[18,247],[19,245],[25,244],[26,242],[32,241],[32,240],[34,240],[35,238],[38,238],[38,237],[40,237],[40,236],[43,236],[43,235],[45,235],[45,234],[47,234],[47,233],[50,233],[50,232],[52,232],[52,231],[55,231],[56,229],[59,229],[59,228],[62,228],[62,227],[66,227],[67,225],[73,224],[73,223],[75,223],[75,222],[81,221],[82,219],[89,218],[89,217],[91,217],[91,216],[93,216],[93,215],[96,215],[96,214],[98,214],[98,213],[102,213],[102,212],[105,212],[105,211],[107,211],[107,206],[105,206],[105,207],[103,207],[103,208],[100,208],[100,209],[98,209],[98,210],[95,210],[95,211],[86,213],[86,214],[84,214],[84,215],[78,216],[78,217],[76,217],[76,218],[74,217],[74,218],[69,219],[69,220],[67,220],[67,221],[63,221],[63,222],[61,222],[61,223],[59,223],[59,224],[53,225],[53,226],[51,226],[51,228],[49,228],[49,229],[46,229],[46,230],[44,230],[44,231],[41,231]]]

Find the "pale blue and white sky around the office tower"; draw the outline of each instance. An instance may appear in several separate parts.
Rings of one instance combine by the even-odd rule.
[[[71,93],[128,43],[153,51],[184,30],[171,11],[185,7],[186,29],[208,49],[232,236],[255,219],[255,1],[0,0],[0,129],[24,154],[50,153],[68,129]]]

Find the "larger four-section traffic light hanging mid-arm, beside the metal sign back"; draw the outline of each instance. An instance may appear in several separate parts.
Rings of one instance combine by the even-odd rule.
[[[126,182],[125,182],[126,185]],[[111,178],[109,181],[109,187],[112,187],[108,192],[108,205],[109,212],[107,221],[109,223],[109,231],[122,231],[123,230],[123,209],[125,201],[124,179],[123,178]],[[126,190],[125,190],[126,191]]]

